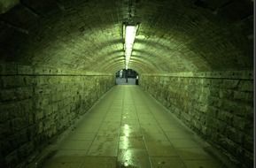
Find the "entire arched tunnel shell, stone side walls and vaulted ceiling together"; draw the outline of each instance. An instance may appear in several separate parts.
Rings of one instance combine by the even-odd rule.
[[[0,15],[1,124],[13,124],[3,144],[17,146],[3,149],[2,167],[17,167],[20,151],[50,140],[114,86],[128,22],[139,23],[128,68],[140,87],[252,167],[253,0],[2,0]],[[20,134],[31,141],[16,145]]]

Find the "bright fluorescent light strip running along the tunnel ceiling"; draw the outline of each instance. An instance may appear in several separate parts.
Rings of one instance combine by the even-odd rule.
[[[125,69],[128,69],[128,63],[132,54],[133,50],[133,44],[136,39],[136,30],[137,25],[131,26],[126,25],[125,26],[125,44],[124,44],[124,50],[125,50]]]

